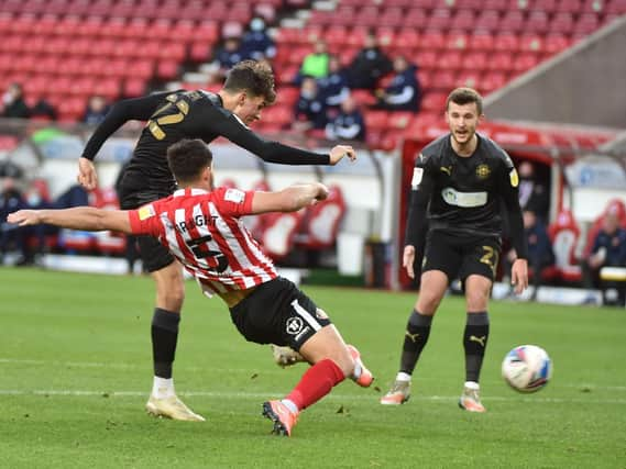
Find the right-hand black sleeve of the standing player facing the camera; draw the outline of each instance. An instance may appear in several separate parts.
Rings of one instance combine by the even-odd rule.
[[[502,150],[504,158],[499,175],[499,193],[508,214],[510,242],[519,259],[528,258],[528,243],[524,231],[524,219],[519,205],[519,177],[513,161],[506,152]]]

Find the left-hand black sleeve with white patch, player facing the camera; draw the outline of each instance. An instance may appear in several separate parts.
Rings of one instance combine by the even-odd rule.
[[[430,175],[429,158],[420,154],[413,169],[410,181],[411,194],[406,223],[405,246],[414,246],[417,253],[424,248],[428,231],[427,209],[432,194],[432,176]]]

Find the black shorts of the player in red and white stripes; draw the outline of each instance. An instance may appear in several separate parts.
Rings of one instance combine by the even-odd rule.
[[[288,345],[299,350],[321,327],[326,313],[294,283],[282,277],[261,284],[230,309],[237,330],[249,342]]]

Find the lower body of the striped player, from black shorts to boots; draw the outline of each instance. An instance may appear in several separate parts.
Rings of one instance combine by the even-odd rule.
[[[345,378],[369,376],[362,386],[373,380],[358,350],[345,345],[326,313],[288,280],[278,278],[260,287],[232,308],[231,315],[249,340],[288,345],[311,364],[285,399],[263,404],[263,415],[274,422],[276,434],[289,435],[299,412]]]

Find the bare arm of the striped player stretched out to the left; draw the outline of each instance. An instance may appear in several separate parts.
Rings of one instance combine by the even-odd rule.
[[[20,226],[47,223],[72,230],[99,232],[132,233],[128,212],[122,210],[102,210],[92,206],[76,206],[64,210],[19,210],[9,214],[9,223]]]

